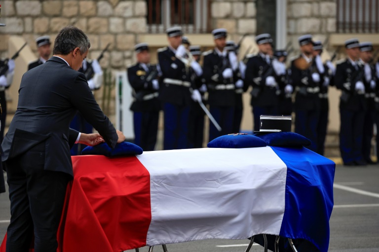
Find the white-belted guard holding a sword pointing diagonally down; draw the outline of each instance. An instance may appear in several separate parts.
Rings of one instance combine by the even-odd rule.
[[[201,95],[191,80],[192,66],[195,68],[196,62],[191,60],[189,52],[182,45],[182,28],[169,28],[166,33],[169,45],[158,50],[162,72],[159,99],[163,103],[164,113],[163,148],[183,149],[188,146],[191,97],[201,101]]]

